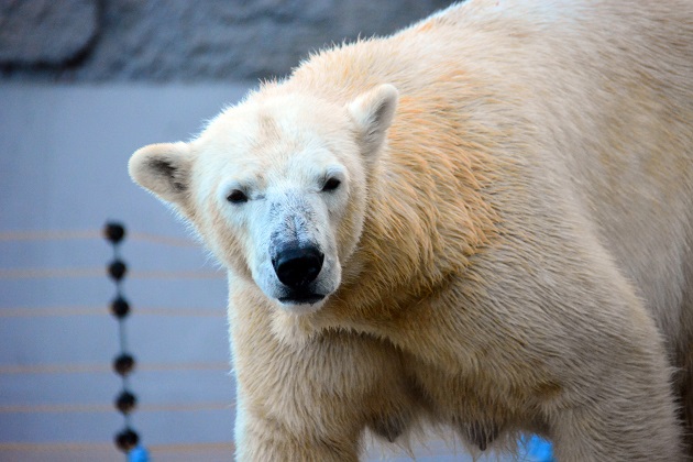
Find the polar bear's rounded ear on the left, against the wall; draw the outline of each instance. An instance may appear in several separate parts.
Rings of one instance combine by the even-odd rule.
[[[150,144],[138,150],[128,164],[132,179],[161,199],[185,206],[193,156],[187,143]]]

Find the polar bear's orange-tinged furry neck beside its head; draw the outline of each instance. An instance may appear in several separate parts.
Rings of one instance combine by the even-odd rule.
[[[435,112],[402,98],[370,175],[363,233],[339,294],[346,316],[398,316],[460,277],[495,234],[486,150],[453,139],[455,118],[426,113]]]

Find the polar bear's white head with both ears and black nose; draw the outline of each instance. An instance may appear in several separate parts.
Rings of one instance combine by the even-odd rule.
[[[234,277],[311,312],[359,242],[397,90],[340,105],[280,88],[227,109],[189,143],[142,147],[130,175],[193,223]]]

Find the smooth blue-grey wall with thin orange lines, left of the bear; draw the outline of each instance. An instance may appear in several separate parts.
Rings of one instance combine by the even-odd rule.
[[[0,461],[123,460],[107,220],[128,227],[135,430],[154,460],[228,460],[224,275],[127,162],[189,138],[245,90],[0,85]]]

